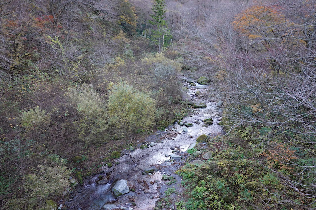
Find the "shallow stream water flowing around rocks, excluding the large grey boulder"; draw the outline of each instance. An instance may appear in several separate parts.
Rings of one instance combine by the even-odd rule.
[[[197,90],[202,93],[201,95],[210,91],[209,86],[195,84],[195,87],[185,84],[188,87],[188,94],[193,100],[197,98],[195,96]],[[191,116],[182,120],[184,123],[192,123],[193,126],[188,127],[188,132],[183,132],[183,126],[175,123],[166,131],[152,135],[151,139],[160,138],[157,145],[126,153],[116,161],[113,167],[104,167],[103,173],[85,179],[83,186],[78,187],[79,190],[77,189],[77,192],[73,193],[73,198],[65,203],[66,206],[76,210],[99,210],[104,204],[113,203],[119,208],[124,206],[132,207],[134,210],[152,210],[159,199],[158,186],[162,181],[163,172],[156,171],[149,176],[143,175],[143,170],[166,164],[165,161],[170,159],[166,155],[172,154],[171,147],[176,147],[179,151],[186,151],[192,143],[196,142],[199,135],[216,136],[222,133],[222,127],[218,125],[222,115],[221,109],[216,106],[215,102],[208,102],[207,97],[198,98],[196,101],[206,103],[207,107],[194,109]],[[203,127],[202,120],[208,118],[213,119],[213,125]],[[109,182],[98,184],[100,178],[108,179]],[[111,185],[120,179],[127,180],[129,187],[133,188],[134,192],[130,191],[116,199],[110,189]],[[132,202],[135,202],[135,207],[132,206]]]

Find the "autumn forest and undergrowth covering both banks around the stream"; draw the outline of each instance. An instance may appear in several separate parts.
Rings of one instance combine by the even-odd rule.
[[[316,208],[316,0],[0,0],[0,209],[57,209],[189,116],[181,76],[225,134],[176,209]]]

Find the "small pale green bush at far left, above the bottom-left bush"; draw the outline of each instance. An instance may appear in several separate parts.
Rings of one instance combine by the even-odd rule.
[[[50,123],[50,114],[37,106],[34,109],[22,112],[21,122],[27,130],[38,129]]]

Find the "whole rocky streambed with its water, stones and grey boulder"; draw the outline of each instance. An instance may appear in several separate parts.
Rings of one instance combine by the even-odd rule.
[[[211,86],[187,78],[182,80],[187,87],[182,97],[197,107],[192,108],[192,114],[165,131],[147,137],[148,144],[144,145],[147,148],[126,150],[112,167],[105,166],[102,173],[84,179],[83,185],[78,186],[72,198],[60,208],[152,210],[171,177],[176,190],[181,190],[181,178],[174,172],[184,164],[188,155],[185,151],[195,145],[198,136],[222,134],[218,123],[222,119],[223,104],[203,97]]]

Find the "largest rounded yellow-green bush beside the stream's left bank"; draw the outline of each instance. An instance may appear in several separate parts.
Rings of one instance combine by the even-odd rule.
[[[113,88],[107,106],[110,124],[117,137],[152,127],[155,110],[155,101],[150,96],[122,84]]]

